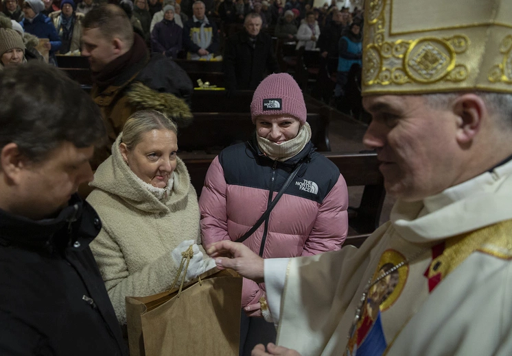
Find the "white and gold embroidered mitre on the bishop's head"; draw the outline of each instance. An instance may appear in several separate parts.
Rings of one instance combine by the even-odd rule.
[[[366,0],[362,94],[512,92],[512,0]]]

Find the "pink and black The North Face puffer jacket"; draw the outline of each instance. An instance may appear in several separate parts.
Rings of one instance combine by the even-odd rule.
[[[255,140],[213,160],[199,200],[202,242],[236,241],[265,212],[296,164],[304,162],[265,223],[244,241],[263,258],[339,250],[348,231],[347,184],[338,168],[308,142],[285,162],[270,160]],[[258,303],[264,284],[244,279],[242,307]]]

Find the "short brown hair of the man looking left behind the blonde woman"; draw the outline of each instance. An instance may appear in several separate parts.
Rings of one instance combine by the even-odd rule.
[[[87,12],[83,21],[84,29],[100,29],[108,40],[119,38],[128,48],[133,44],[133,28],[130,19],[119,6],[108,4],[93,8]]]

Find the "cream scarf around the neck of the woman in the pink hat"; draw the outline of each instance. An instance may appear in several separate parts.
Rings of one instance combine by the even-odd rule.
[[[274,142],[267,140],[256,135],[259,149],[265,153],[271,160],[284,162],[290,160],[290,158],[298,155],[307,142],[311,140],[311,127],[310,124],[305,123],[299,129],[297,136],[281,144],[275,144]]]

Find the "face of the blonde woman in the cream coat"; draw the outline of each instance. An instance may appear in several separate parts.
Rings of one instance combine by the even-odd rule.
[[[137,177],[156,188],[165,188],[176,169],[178,139],[168,129],[154,129],[142,134],[142,140],[132,151],[126,144],[119,146],[124,162]]]

